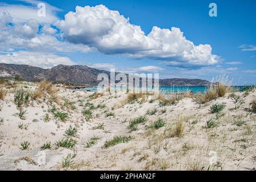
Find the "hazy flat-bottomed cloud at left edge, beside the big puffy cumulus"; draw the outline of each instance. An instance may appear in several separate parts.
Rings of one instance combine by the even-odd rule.
[[[57,30],[51,24],[41,24],[35,19],[23,23],[14,23],[13,16],[7,10],[0,10],[0,51],[22,48],[40,52],[74,52],[89,51],[83,44],[71,44],[58,39]]]

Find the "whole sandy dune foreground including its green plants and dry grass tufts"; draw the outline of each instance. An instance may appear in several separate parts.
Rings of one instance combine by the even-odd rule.
[[[1,170],[255,170],[256,90],[75,91],[0,84]]]

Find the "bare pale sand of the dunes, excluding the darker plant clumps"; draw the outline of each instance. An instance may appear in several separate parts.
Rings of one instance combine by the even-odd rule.
[[[27,86],[25,86],[27,85]],[[17,88],[33,92],[36,84],[20,82]],[[251,170],[256,168],[256,114],[247,111],[256,92],[236,92],[237,103],[229,94],[207,104],[199,105],[193,98],[183,98],[175,105],[159,106],[159,101],[135,102],[120,107],[126,100],[125,93],[105,93],[91,99],[93,93],[59,88],[59,104],[50,104],[49,97],[30,100],[24,118],[19,118],[14,103],[14,89],[6,89],[7,95],[0,100],[0,169],[1,170]],[[64,100],[73,102],[72,109],[64,105]],[[91,110],[93,118],[86,119],[82,110],[89,102],[101,108]],[[151,102],[151,103],[150,103]],[[221,114],[211,114],[213,104],[223,104]],[[67,112],[67,121],[58,121],[49,111],[55,105],[57,110]],[[75,107],[74,107],[75,106]],[[239,106],[239,108],[238,108]],[[147,115],[148,109],[157,109]],[[163,110],[166,110],[164,112]],[[106,117],[107,113],[113,116]],[[46,114],[50,120],[43,121]],[[110,114],[111,115],[111,114]],[[129,130],[132,118],[146,115],[148,121],[138,125],[138,130]],[[216,118],[219,117],[219,118]],[[151,122],[162,118],[166,123],[159,129],[146,129]],[[207,128],[206,122],[213,118],[218,126]],[[181,137],[172,136],[175,123],[183,123]],[[27,129],[20,129],[23,123]],[[98,125],[101,129],[93,129]],[[73,148],[57,147],[55,142],[65,138],[69,126],[76,127],[78,137]],[[106,140],[115,136],[131,136],[125,143],[103,147]],[[99,139],[87,146],[91,138]],[[30,143],[28,150],[21,149],[21,143]],[[51,150],[41,150],[41,146],[51,142]],[[69,167],[62,162],[71,154]]]

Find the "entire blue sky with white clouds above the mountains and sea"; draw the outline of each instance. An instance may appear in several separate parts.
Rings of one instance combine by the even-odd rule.
[[[254,0],[1,1],[0,63],[255,84],[255,7]]]

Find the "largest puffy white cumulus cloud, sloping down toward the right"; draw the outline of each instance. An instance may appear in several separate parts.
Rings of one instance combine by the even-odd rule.
[[[149,35],[129,18],[104,5],[77,6],[58,22],[63,38],[71,43],[85,44],[105,54],[125,53],[138,59],[163,59],[169,65],[213,65],[219,57],[209,44],[195,46],[179,28],[153,27]]]

